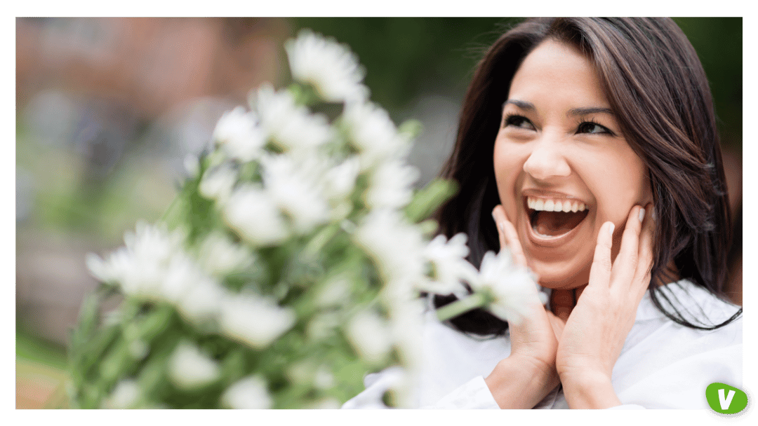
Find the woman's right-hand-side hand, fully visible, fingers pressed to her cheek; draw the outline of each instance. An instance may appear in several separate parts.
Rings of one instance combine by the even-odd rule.
[[[647,211],[651,209],[648,205]],[[556,353],[556,369],[572,409],[621,404],[611,374],[650,284],[653,265],[653,220],[650,214],[645,216],[642,207],[632,207],[614,262],[613,223],[604,223],[597,236],[590,282],[568,316]]]

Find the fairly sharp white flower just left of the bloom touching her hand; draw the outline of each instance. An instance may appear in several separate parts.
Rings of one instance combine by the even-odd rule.
[[[428,281],[425,291],[437,294],[452,294],[463,291],[462,281],[475,281],[478,272],[465,259],[468,256],[466,235],[454,235],[447,240],[444,235],[437,235],[424,248],[424,257],[434,268],[434,278]]]

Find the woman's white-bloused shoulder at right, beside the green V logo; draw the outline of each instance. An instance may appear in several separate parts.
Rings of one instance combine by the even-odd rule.
[[[689,281],[659,290],[662,306],[675,306],[685,319],[703,327],[724,322],[739,309]],[[613,371],[624,403],[659,409],[708,409],[705,389],[709,384],[741,387],[741,316],[715,330],[690,328],[663,315],[649,294],[637,314]]]

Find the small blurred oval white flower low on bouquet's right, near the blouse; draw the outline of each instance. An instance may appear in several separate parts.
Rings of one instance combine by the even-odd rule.
[[[368,362],[383,362],[392,349],[390,327],[377,313],[359,313],[349,322],[346,331],[352,346]]]

